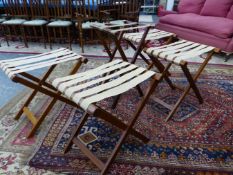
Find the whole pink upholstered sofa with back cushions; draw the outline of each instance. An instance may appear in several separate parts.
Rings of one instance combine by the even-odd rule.
[[[157,28],[232,53],[233,0],[180,0],[176,12],[160,12]]]

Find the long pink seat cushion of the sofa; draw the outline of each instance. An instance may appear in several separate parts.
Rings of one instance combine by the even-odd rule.
[[[227,18],[186,13],[166,15],[160,18],[160,22],[198,30],[220,38],[233,36],[233,20]]]

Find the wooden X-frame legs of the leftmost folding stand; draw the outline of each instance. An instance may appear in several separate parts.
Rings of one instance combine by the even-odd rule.
[[[79,60],[77,62],[77,64],[73,67],[73,69],[71,70],[71,72],[69,74],[72,75],[72,74],[76,73],[83,62],[86,62],[86,60],[84,60],[84,61]],[[42,87],[44,85],[47,88],[49,88],[50,90],[54,91],[54,88],[51,88],[51,85],[49,85],[45,81],[47,80],[47,78],[52,73],[52,71],[54,70],[55,67],[56,67],[56,65],[51,66],[49,68],[49,70],[45,73],[45,75],[43,76],[43,78],[41,80],[39,80],[38,78],[33,77],[32,75],[27,74],[27,73],[22,73],[21,75],[25,76],[26,78],[29,78],[32,81],[37,82],[37,86],[38,87]],[[28,105],[33,100],[33,98],[38,93],[38,91],[39,91],[38,88],[35,88],[33,90],[32,94],[26,100],[25,104],[23,105],[23,107],[20,109],[20,111],[18,112],[18,114],[15,117],[15,119],[18,120],[22,116],[22,114],[25,113],[26,116],[27,116],[27,118],[29,119],[29,121],[31,121],[31,123],[32,123],[33,126],[32,126],[31,131],[28,133],[27,138],[32,137],[34,135],[34,133],[37,130],[37,128],[41,125],[41,123],[43,122],[43,120],[45,119],[45,117],[48,115],[48,113],[51,111],[51,109],[53,108],[53,106],[55,105],[55,103],[58,100],[57,97],[54,96],[52,98],[52,100],[50,101],[50,103],[48,104],[48,106],[46,107],[45,111],[41,114],[41,116],[38,117],[38,118],[36,118],[34,116],[34,114],[28,109]],[[54,91],[54,93],[56,93],[57,95],[61,95],[59,92],[56,92],[56,91]]]

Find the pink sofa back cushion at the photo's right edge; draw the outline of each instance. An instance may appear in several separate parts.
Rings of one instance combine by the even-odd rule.
[[[232,5],[232,0],[206,0],[201,15],[226,17]]]

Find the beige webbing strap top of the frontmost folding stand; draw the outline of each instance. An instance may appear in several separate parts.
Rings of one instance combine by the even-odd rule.
[[[154,74],[134,64],[115,60],[81,75],[57,78],[52,85],[87,110],[90,104],[124,93]]]

